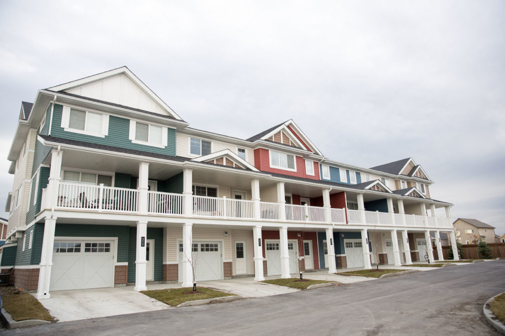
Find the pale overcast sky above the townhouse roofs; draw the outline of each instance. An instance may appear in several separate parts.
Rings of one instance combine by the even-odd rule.
[[[192,127],[293,119],[328,157],[413,157],[505,233],[505,2],[0,1],[0,208],[21,101],[123,65]],[[8,213],[0,212],[8,217]]]

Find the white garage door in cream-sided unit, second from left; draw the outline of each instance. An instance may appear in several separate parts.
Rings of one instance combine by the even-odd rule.
[[[220,242],[193,243],[192,258],[195,267],[195,281],[222,279],[223,271]],[[182,243],[179,243],[179,282],[182,282]]]

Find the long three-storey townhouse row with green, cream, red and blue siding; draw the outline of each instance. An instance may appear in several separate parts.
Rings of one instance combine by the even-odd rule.
[[[370,169],[331,160],[292,120],[248,139],[193,129],[126,67],[38,90],[8,159],[0,265],[40,299],[191,286],[193,267],[195,281],[260,281],[410,264],[433,260],[431,232],[456,241],[452,204],[431,197],[412,158]]]

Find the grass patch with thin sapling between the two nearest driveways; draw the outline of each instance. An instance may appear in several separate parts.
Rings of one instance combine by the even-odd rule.
[[[186,301],[221,298],[224,296],[235,296],[234,294],[224,293],[205,287],[197,287],[196,292],[199,293],[193,294],[192,287],[185,287],[156,291],[142,291],[140,293],[145,294],[158,301],[164,302],[172,307],[175,307]]]

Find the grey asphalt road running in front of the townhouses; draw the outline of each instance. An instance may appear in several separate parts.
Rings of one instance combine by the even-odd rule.
[[[503,291],[505,260],[494,260],[231,303],[1,331],[5,335],[495,335],[482,306]]]

